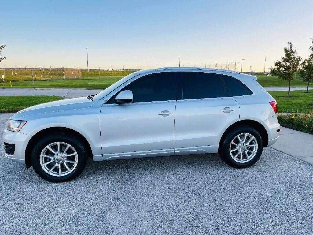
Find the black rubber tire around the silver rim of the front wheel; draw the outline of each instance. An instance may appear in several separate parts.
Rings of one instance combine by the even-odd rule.
[[[64,176],[49,175],[48,172],[46,172],[41,167],[41,164],[40,164],[41,152],[45,149],[47,145],[54,143],[54,142],[64,142],[64,143],[70,144],[76,150],[77,159],[78,159],[77,165],[73,171],[68,173],[68,175],[64,175]],[[74,137],[69,133],[59,132],[59,133],[49,134],[41,138],[38,141],[38,143],[35,144],[33,151],[32,151],[32,155],[31,155],[31,162],[32,162],[33,169],[35,170],[35,172],[44,180],[47,180],[50,182],[65,182],[65,181],[72,180],[76,178],[78,175],[80,175],[80,173],[84,170],[86,166],[87,158],[88,158],[88,152],[87,152],[86,146],[80,138]],[[54,162],[51,164],[54,164]],[[62,163],[60,165],[62,165]],[[65,165],[63,167],[65,167]]]

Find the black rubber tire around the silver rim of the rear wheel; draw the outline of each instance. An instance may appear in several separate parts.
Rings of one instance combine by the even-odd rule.
[[[240,162],[235,161],[229,152],[230,144],[232,140],[241,133],[249,133],[253,135],[258,144],[258,149],[256,151],[255,156],[250,161],[245,162],[245,163],[240,163]],[[254,165],[254,163],[256,163],[259,160],[262,152],[263,152],[262,137],[258,131],[256,131],[254,128],[249,127],[249,126],[238,126],[228,131],[228,133],[225,135],[225,137],[221,141],[221,145],[219,148],[219,155],[221,159],[225,163],[227,163],[228,165],[234,168],[246,168],[246,167]]]

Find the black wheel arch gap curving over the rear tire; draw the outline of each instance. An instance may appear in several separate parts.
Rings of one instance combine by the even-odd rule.
[[[240,120],[238,122],[235,122],[233,123],[232,125],[230,125],[223,133],[221,139],[220,139],[220,142],[219,142],[219,146],[221,146],[221,143],[223,141],[223,139],[225,138],[225,136],[227,135],[227,133],[230,131],[230,130],[233,130],[234,128],[238,127],[238,126],[249,126],[249,127],[252,127],[254,128],[255,130],[257,130],[261,137],[262,137],[262,141],[263,141],[263,147],[267,147],[268,143],[269,143],[269,136],[268,136],[268,133],[265,129],[265,127],[257,122],[257,121],[254,121],[254,120],[250,120],[250,119],[245,119],[245,120]]]

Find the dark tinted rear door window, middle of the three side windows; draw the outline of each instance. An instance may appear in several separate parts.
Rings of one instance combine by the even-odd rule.
[[[228,97],[228,91],[217,74],[184,73],[182,99]]]

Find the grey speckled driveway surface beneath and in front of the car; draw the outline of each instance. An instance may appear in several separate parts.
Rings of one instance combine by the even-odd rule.
[[[10,114],[0,115],[3,131]],[[271,148],[93,162],[50,183],[0,151],[0,234],[312,234],[313,165]]]

